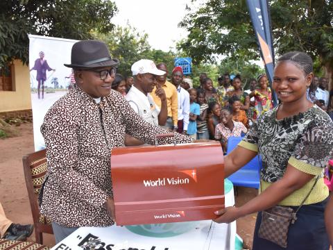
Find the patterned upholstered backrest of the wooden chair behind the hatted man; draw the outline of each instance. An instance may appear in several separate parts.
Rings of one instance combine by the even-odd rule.
[[[33,213],[33,222],[36,224],[40,220],[40,210],[38,208],[37,197],[46,175],[46,150],[37,151],[24,156],[23,159],[24,176],[26,178],[26,189]]]

